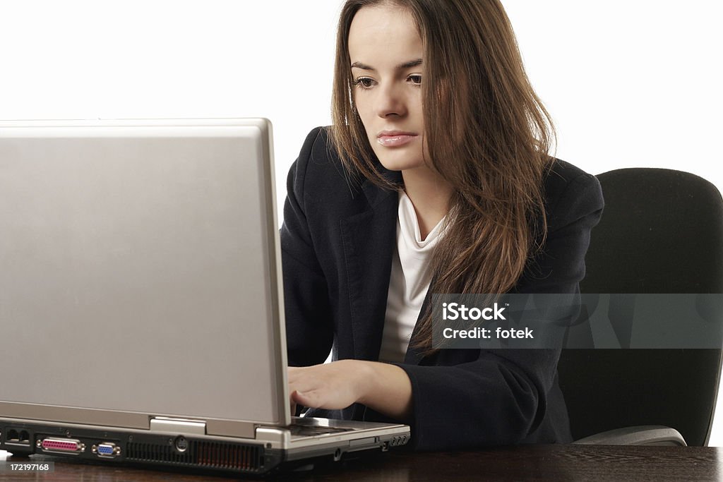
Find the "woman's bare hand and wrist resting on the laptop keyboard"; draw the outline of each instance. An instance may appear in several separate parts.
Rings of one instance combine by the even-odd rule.
[[[289,367],[291,413],[296,404],[336,410],[359,402],[397,419],[411,410],[411,382],[406,371],[388,363],[340,360],[302,368]]]

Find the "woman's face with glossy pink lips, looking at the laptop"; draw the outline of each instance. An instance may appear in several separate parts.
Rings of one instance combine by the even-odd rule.
[[[364,7],[349,29],[354,103],[391,171],[424,167],[422,38],[405,9]]]

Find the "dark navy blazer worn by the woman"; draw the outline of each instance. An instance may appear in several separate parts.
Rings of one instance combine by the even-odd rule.
[[[514,291],[578,293],[602,191],[594,176],[557,161],[545,192],[547,242]],[[344,170],[327,129],[309,133],[288,173],[281,228],[289,366],[322,363],[332,348],[334,360],[378,360],[397,210],[395,191]],[[478,349],[423,358],[409,348],[399,366],[411,379],[411,447],[570,442],[559,356],[559,350]],[[308,415],[385,420],[359,404]]]

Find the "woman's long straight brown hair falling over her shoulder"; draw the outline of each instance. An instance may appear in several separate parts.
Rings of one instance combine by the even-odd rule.
[[[354,106],[348,33],[362,7],[394,4],[424,45],[425,161],[448,181],[445,234],[432,255],[430,293],[506,293],[544,242],[543,183],[555,139],[530,85],[499,0],[347,0],[338,25],[331,139],[351,173],[388,189]],[[434,128],[432,129],[432,126]],[[442,128],[440,128],[442,127]],[[432,317],[416,345],[432,351]]]

